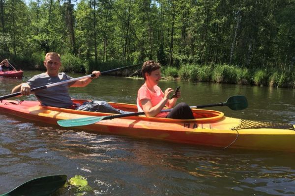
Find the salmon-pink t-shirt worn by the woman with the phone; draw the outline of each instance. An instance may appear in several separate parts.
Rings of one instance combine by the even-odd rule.
[[[154,86],[154,90],[155,92],[150,91],[146,84],[140,87],[140,89],[137,92],[137,104],[140,106],[141,109],[143,109],[143,106],[141,104],[142,99],[145,99],[145,98],[149,99],[153,107],[157,105],[164,98],[164,93],[160,89],[160,87],[156,85]],[[167,115],[168,115],[168,112],[162,112],[157,114],[155,117],[166,118]]]

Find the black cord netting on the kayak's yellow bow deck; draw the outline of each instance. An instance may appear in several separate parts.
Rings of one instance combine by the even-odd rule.
[[[260,121],[241,120],[241,123],[232,128],[232,130],[240,129],[258,129],[258,128],[273,128],[273,129],[289,129],[295,131],[293,124],[284,123],[269,123]]]

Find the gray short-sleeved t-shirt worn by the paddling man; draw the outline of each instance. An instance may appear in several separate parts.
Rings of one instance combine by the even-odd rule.
[[[31,88],[36,88],[69,79],[73,78],[65,73],[59,73],[56,77],[51,77],[46,73],[41,73],[30,78],[27,83]],[[34,93],[37,99],[41,102],[41,105],[66,108],[73,104],[68,93],[68,87],[70,84],[71,83],[61,84],[47,89],[34,91]]]

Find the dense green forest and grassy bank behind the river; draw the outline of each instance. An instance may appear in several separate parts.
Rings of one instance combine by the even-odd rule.
[[[295,0],[0,0],[0,60],[63,72],[153,59],[164,76],[295,88]]]

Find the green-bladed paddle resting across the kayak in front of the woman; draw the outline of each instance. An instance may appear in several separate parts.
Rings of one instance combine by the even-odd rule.
[[[190,106],[190,108],[204,108],[204,107],[214,107],[214,106],[228,106],[232,110],[243,110],[248,107],[248,101],[245,96],[237,95],[228,98],[226,102],[220,102],[215,104],[208,104],[208,105],[198,105],[198,106]],[[172,109],[161,110],[160,112],[169,112]],[[102,116],[102,117],[86,117],[86,118],[79,118],[79,119],[67,119],[67,120],[59,120],[58,124],[64,127],[71,127],[71,126],[85,126],[93,123],[98,123],[102,120],[111,120],[123,117],[130,117],[130,116],[139,116],[144,115],[144,112],[137,112],[137,113],[130,113],[130,114],[119,114],[119,115],[111,115],[111,116]]]

